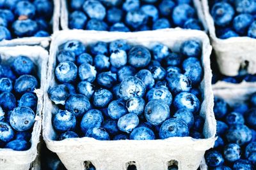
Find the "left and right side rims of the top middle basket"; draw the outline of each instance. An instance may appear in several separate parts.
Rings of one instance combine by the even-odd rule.
[[[60,25],[63,30],[69,29],[68,27],[68,4],[67,0],[60,0],[61,1],[61,18],[60,18]],[[200,3],[200,0],[193,0],[193,4],[196,9],[196,14],[198,16],[198,19],[202,22],[202,25],[204,27],[204,31],[207,32],[207,24],[204,17],[204,11],[202,8],[202,4]]]

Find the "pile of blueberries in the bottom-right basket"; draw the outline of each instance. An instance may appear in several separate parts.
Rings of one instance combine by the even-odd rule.
[[[234,107],[221,98],[214,99],[217,136],[214,148],[205,154],[210,169],[256,168],[256,93],[248,103]]]

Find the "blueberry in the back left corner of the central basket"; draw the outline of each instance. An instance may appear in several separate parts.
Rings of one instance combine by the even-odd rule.
[[[85,46],[83,45],[83,43],[81,43],[81,41],[78,40],[67,41],[66,43],[61,45],[61,48],[63,48],[63,50],[74,52],[76,56],[81,55],[81,53],[85,52]]]

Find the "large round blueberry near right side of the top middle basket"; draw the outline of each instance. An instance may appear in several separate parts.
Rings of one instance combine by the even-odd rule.
[[[195,18],[196,11],[189,4],[179,4],[175,6],[172,13],[172,19],[175,25],[183,27],[186,20]]]

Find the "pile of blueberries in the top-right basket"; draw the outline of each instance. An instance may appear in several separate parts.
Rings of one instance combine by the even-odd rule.
[[[209,4],[218,38],[256,38],[255,0],[214,0]]]

